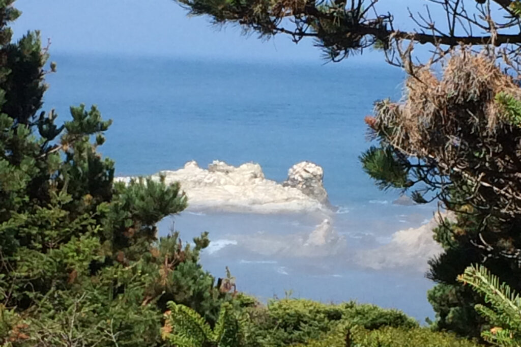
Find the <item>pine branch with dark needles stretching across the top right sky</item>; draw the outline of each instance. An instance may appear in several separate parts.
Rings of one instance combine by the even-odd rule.
[[[407,10],[403,6],[389,10],[385,7],[389,4],[378,0],[175,1],[191,16],[206,15],[219,26],[239,25],[245,33],[262,39],[281,34],[294,43],[312,39],[324,58],[332,61],[375,48],[389,63],[407,68],[414,61],[411,43],[434,47],[436,59],[460,44],[508,48],[505,54],[512,58],[521,44],[520,5],[515,0],[425,1],[418,13],[408,11],[411,21],[405,27],[395,18]],[[433,17],[437,9],[442,12],[440,18]]]

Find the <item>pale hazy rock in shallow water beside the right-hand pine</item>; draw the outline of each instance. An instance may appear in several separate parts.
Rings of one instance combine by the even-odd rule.
[[[452,218],[449,214],[442,214],[441,217]],[[427,261],[443,251],[432,239],[432,230],[438,226],[439,220],[440,216],[436,215],[419,228],[395,232],[390,243],[377,249],[358,252],[356,262],[377,270],[403,268],[426,271]]]

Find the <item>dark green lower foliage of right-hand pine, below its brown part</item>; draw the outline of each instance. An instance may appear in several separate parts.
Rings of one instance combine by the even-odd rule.
[[[490,328],[487,320],[474,309],[476,304],[484,303],[483,298],[456,280],[469,264],[481,263],[513,284],[513,288],[519,289],[517,279],[521,276],[521,270],[516,262],[498,256],[499,248],[492,256],[486,257],[485,250],[475,246],[480,242],[476,240],[486,237],[490,244],[511,249],[521,242],[519,234],[515,228],[499,232],[494,227],[494,218],[490,217],[487,220],[488,228],[483,229],[482,218],[483,215],[476,214],[472,207],[464,206],[452,221],[445,219],[434,230],[435,240],[444,248],[442,254],[429,261],[430,270],[427,274],[438,283],[428,291],[428,300],[437,315],[433,325],[436,329],[480,337],[482,330]]]

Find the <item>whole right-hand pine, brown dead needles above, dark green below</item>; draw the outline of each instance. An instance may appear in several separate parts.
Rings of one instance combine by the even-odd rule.
[[[457,275],[482,263],[521,289],[521,89],[494,59],[462,49],[440,78],[428,66],[410,71],[404,101],[378,102],[366,119],[380,145],[361,157],[380,187],[455,213],[435,230],[444,252],[429,262],[439,284],[428,299],[438,329],[473,337],[486,328],[474,311],[482,299]]]

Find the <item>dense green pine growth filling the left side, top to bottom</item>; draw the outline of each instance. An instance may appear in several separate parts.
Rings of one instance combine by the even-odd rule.
[[[38,32],[11,42],[19,15],[0,0],[0,344],[160,345],[168,301],[215,322],[230,295],[198,264],[207,234],[157,238],[187,206],[179,185],[114,183],[95,106],[41,111],[56,64]]]

